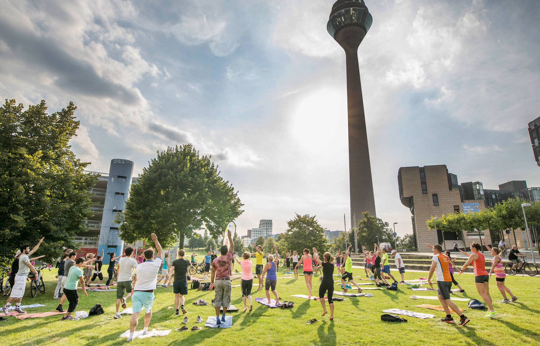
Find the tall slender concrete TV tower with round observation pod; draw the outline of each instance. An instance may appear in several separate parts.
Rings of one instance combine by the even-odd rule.
[[[345,50],[346,57],[351,225],[353,218],[356,222],[362,219],[362,212],[376,216],[358,65],[358,48],[372,22],[372,15],[363,0],[338,0],[332,6],[326,25],[330,36]]]

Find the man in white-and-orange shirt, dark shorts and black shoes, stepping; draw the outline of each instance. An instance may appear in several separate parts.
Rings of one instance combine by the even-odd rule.
[[[431,283],[431,276],[433,273],[436,273],[437,278],[437,298],[441,302],[442,308],[446,313],[446,317],[441,318],[441,322],[454,323],[454,318],[450,314],[450,309],[460,316],[460,325],[465,325],[469,322],[461,310],[456,306],[456,304],[450,299],[450,289],[452,288],[452,278],[450,277],[449,262],[447,256],[442,254],[442,246],[435,245],[433,246],[433,257],[431,258],[431,267],[429,268],[428,274],[428,284],[429,287],[433,288]]]

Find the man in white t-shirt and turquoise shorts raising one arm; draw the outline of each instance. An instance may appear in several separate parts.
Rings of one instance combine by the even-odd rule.
[[[143,307],[145,309],[143,335],[148,334],[148,326],[152,319],[154,290],[156,289],[156,280],[158,278],[159,267],[161,266],[163,249],[159,244],[156,234],[152,233],[151,236],[154,245],[156,245],[156,257],[154,258],[154,249],[146,249],[144,251],[146,261],[139,263],[135,269],[135,280],[133,280],[133,289],[131,290],[133,315],[131,315],[130,321],[130,337],[127,338],[127,341],[133,341],[133,334],[139,323],[139,314]]]

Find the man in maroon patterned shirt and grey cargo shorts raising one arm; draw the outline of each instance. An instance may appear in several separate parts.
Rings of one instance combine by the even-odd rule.
[[[227,237],[231,247],[224,245],[221,247],[221,256],[212,262],[212,278],[210,290],[215,287],[214,307],[215,307],[215,324],[225,322],[225,314],[227,308],[231,305],[231,263],[233,261],[234,242],[231,238],[231,230],[227,230]],[[215,281],[215,284],[214,284]],[[219,310],[223,308],[221,320],[219,318]]]

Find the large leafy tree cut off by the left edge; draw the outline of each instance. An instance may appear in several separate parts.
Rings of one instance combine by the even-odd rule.
[[[75,248],[73,236],[84,231],[95,175],[84,174],[89,162],[75,157],[69,145],[79,121],[76,106],[52,114],[45,101],[24,110],[15,100],[0,107],[0,257],[45,237],[36,255],[45,261]]]

